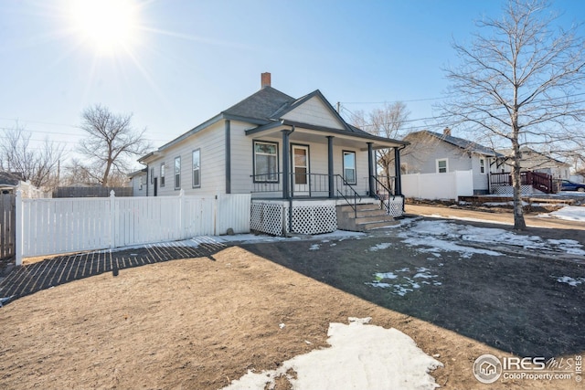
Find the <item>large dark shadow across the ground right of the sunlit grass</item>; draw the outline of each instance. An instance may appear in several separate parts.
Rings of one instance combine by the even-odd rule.
[[[505,353],[553,357],[585,351],[585,283],[558,282],[585,277],[583,265],[528,250],[524,256],[425,252],[397,237],[400,229],[408,227],[361,239],[241,247]]]

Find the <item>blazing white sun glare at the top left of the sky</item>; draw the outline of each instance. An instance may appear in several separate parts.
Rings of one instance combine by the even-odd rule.
[[[138,5],[133,0],[71,0],[76,36],[100,55],[129,50],[137,39]]]

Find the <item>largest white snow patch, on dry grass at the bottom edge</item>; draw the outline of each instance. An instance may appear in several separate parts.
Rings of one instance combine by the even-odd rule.
[[[434,389],[431,370],[441,362],[422,352],[406,334],[350,318],[349,324],[330,323],[330,348],[314,350],[283,362],[277,370],[251,371],[229,390],[273,388],[285,375],[295,390],[313,389]],[[294,373],[291,373],[293,370]]]

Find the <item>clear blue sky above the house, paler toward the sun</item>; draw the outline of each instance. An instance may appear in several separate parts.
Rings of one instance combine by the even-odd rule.
[[[133,113],[133,125],[160,146],[259,90],[265,71],[293,97],[318,89],[349,111],[402,100],[411,120],[429,118],[446,87],[441,69],[457,63],[452,40],[469,41],[474,20],[501,15],[504,4],[136,0],[131,16],[116,11],[131,26],[118,32],[119,18],[92,11],[83,20],[72,14],[75,3],[0,3],[0,128],[17,120],[33,140],[48,136],[68,149],[90,105]],[[568,24],[585,20],[585,2],[553,6]],[[124,47],[100,46],[109,47],[112,31]]]

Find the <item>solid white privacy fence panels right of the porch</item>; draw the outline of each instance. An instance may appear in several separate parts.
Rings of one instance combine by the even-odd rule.
[[[402,174],[402,194],[420,199],[457,199],[473,195],[473,171]]]

